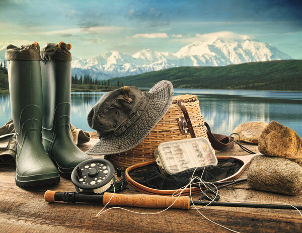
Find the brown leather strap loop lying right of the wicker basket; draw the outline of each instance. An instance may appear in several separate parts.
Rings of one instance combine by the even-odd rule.
[[[204,122],[204,126],[207,128],[209,141],[211,142],[211,145],[215,150],[226,150],[234,148],[235,143],[231,140],[231,138],[234,139],[234,137],[212,133],[210,126],[206,122]]]

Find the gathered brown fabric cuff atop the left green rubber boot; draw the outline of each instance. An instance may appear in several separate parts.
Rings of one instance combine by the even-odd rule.
[[[5,59],[8,61],[14,60],[27,60],[27,61],[40,61],[40,46],[38,43],[22,45],[21,47],[17,47],[15,45],[10,44],[7,47],[7,51],[5,53]]]

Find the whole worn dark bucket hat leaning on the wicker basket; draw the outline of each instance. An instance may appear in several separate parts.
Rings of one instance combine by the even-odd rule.
[[[100,138],[87,153],[113,154],[138,145],[166,114],[173,95],[169,81],[157,83],[149,92],[125,86],[104,94],[87,117]]]

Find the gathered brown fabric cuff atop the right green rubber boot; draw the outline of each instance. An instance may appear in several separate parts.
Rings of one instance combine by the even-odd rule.
[[[47,43],[41,48],[42,60],[53,60],[53,61],[71,61],[71,53],[69,49],[71,45],[60,42]]]

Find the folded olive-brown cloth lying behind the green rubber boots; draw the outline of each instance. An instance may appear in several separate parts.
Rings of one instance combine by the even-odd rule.
[[[82,144],[90,141],[89,132],[78,129],[70,124],[70,134],[74,144]],[[16,165],[17,133],[13,119],[0,128],[0,164]]]

